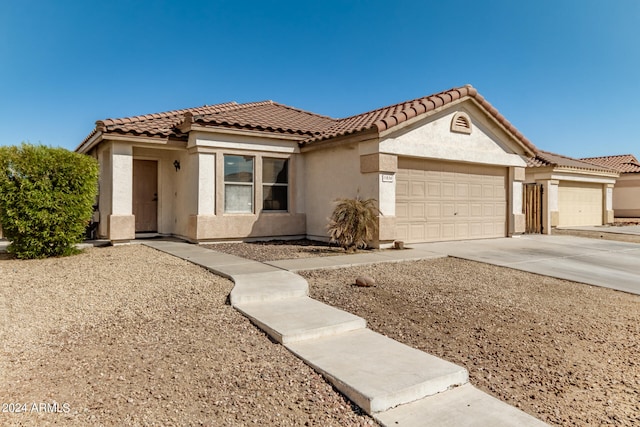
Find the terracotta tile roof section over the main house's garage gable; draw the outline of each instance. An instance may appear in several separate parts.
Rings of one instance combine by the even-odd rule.
[[[411,101],[379,108],[377,110],[347,117],[345,119],[339,119],[333,126],[326,129],[319,136],[309,138],[305,141],[305,143],[312,143],[367,130],[376,130],[378,132],[382,132],[387,129],[391,129],[403,122],[406,122],[413,117],[435,110],[464,97],[473,98],[512,135],[520,140],[531,151],[535,152],[536,147],[531,143],[531,141],[529,141],[524,135],[522,135],[471,85],[449,89],[435,95],[416,98]]]

